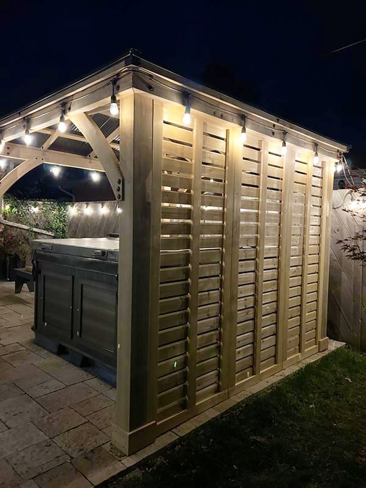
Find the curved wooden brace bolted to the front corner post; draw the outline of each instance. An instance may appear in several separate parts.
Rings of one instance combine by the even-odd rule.
[[[87,113],[70,115],[69,118],[91,145],[107,175],[114,196],[117,200],[122,200],[123,175],[119,167],[118,159],[109,146],[104,134]]]

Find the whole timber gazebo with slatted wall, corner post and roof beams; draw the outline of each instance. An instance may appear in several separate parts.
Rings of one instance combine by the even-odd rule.
[[[112,442],[123,452],[327,348],[333,169],[347,146],[133,53],[0,130],[13,168],[0,196],[51,163],[105,171],[120,201]]]

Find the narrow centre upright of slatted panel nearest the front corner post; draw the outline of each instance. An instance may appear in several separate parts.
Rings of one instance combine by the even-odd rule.
[[[202,138],[203,120],[200,118],[195,118],[193,123],[192,229],[189,269],[188,409],[193,408],[196,404],[199,239],[201,232]]]

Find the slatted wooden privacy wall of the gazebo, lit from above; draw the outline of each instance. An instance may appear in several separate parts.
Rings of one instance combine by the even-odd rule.
[[[322,335],[325,162],[233,131],[164,108],[160,424],[316,352]]]

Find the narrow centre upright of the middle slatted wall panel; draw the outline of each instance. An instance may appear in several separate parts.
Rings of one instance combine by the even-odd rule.
[[[263,277],[265,264],[266,202],[268,175],[268,141],[261,142],[261,175],[259,190],[258,244],[256,270],[256,316],[254,328],[254,375],[261,371],[262,321],[263,321]]]

